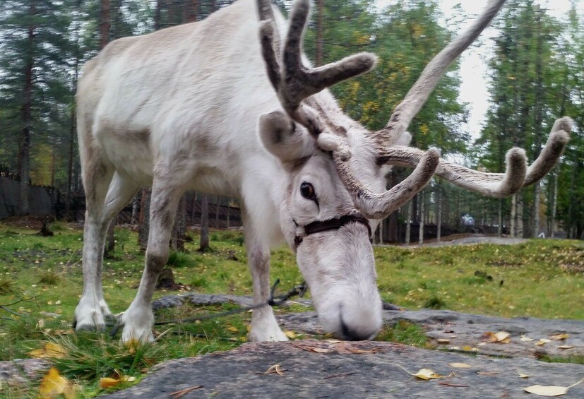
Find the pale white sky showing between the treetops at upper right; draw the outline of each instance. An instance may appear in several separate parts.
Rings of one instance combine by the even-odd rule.
[[[385,7],[395,3],[395,1],[378,0],[378,4],[380,7]],[[580,16],[583,16],[584,0],[573,1],[576,4]],[[482,11],[487,1],[439,0],[438,3],[445,17],[443,23],[449,29],[460,32]],[[559,19],[564,18],[571,7],[571,1],[569,0],[539,0],[536,3],[542,4],[544,8],[549,10],[552,16]],[[460,16],[460,8],[455,8],[457,4],[460,5],[460,8],[468,17],[466,20],[463,20],[464,16]],[[446,23],[446,20],[451,20],[451,23]],[[496,35],[496,29],[487,28],[479,38],[479,42],[472,45],[472,47],[460,56],[460,77],[462,78],[462,84],[460,85],[459,100],[466,102],[469,105],[470,111],[468,123],[466,126],[463,126],[463,129],[473,139],[478,138],[489,107],[487,62],[491,57],[494,45],[493,37],[496,37]]]

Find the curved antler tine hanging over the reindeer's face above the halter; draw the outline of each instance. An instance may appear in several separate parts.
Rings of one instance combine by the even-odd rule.
[[[400,184],[384,193],[374,193],[361,181],[355,179],[348,162],[344,162],[338,153],[333,153],[339,177],[353,198],[353,203],[369,219],[381,219],[410,201],[418,191],[424,188],[439,165],[440,153],[432,148],[427,152],[417,150],[419,157],[414,172]]]

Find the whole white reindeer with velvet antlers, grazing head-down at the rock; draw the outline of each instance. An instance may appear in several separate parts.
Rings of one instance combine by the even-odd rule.
[[[136,298],[119,319],[122,340],[153,339],[150,302],[177,203],[188,189],[241,199],[255,304],[269,296],[270,247],[287,242],[323,327],[364,340],[382,323],[370,242],[381,218],[434,174],[508,196],[541,179],[561,156],[568,118],[556,121],[529,167],[523,150],[509,150],[502,174],[407,147],[410,121],[504,0],[489,1],[429,63],[381,131],[347,117],[327,90],[372,69],[375,56],[356,54],[313,69],[302,54],[309,0],[295,1],[290,23],[269,3],[240,0],[202,22],[115,40],[85,66],[77,94],[87,212],[76,330],[105,328],[105,234],[141,186],[152,186],[150,236]],[[391,165],[414,170],[386,190]],[[269,306],[254,310],[249,339],[287,340]]]

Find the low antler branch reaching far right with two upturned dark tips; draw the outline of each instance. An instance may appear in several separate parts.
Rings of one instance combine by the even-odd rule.
[[[469,169],[441,159],[436,174],[451,183],[488,196],[504,197],[542,179],[556,165],[569,140],[572,120],[558,119],[540,156],[527,168],[525,151],[511,148],[506,155],[505,173],[487,173]],[[387,165],[417,167],[424,152],[417,148],[395,145],[380,150],[378,162]]]

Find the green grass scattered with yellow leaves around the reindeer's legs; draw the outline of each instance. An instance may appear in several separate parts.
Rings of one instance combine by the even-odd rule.
[[[61,374],[77,381],[81,395],[104,393],[101,377],[115,372],[139,380],[152,364],[167,359],[229,350],[246,340],[249,314],[213,321],[174,325],[155,345],[128,348],[107,334],[71,331],[73,311],[83,290],[82,232],[58,222],[49,228],[54,237],[36,230],[0,224],[0,359],[28,357],[43,343],[58,343],[65,359],[54,360]],[[195,234],[196,236],[196,234]],[[136,234],[115,231],[116,249],[104,263],[105,299],[114,313],[124,311],[136,294],[144,256]],[[251,294],[251,276],[241,232],[210,234],[212,250],[200,253],[198,237],[186,243],[187,253],[174,253],[169,266],[185,290],[202,293]],[[375,249],[378,285],[383,300],[407,309],[451,309],[494,316],[584,318],[584,244],[576,241],[532,240],[514,246],[472,245],[434,248],[379,247]],[[302,281],[294,256],[285,248],[271,256],[271,280],[280,278],[286,291]],[[157,291],[155,297],[176,292]],[[22,300],[21,300],[22,299]],[[21,300],[20,302],[18,302]],[[14,302],[18,302],[13,304]],[[225,311],[234,305],[165,309],[157,320]],[[283,311],[302,311],[290,306]],[[41,314],[49,312],[52,316]],[[162,326],[165,327],[165,326]],[[166,331],[166,332],[165,332]],[[299,335],[303,338],[304,335]],[[384,326],[377,340],[431,347],[423,328],[406,322]],[[582,362],[573,359],[547,361]],[[37,386],[25,391],[4,387],[0,395],[35,396]]]

